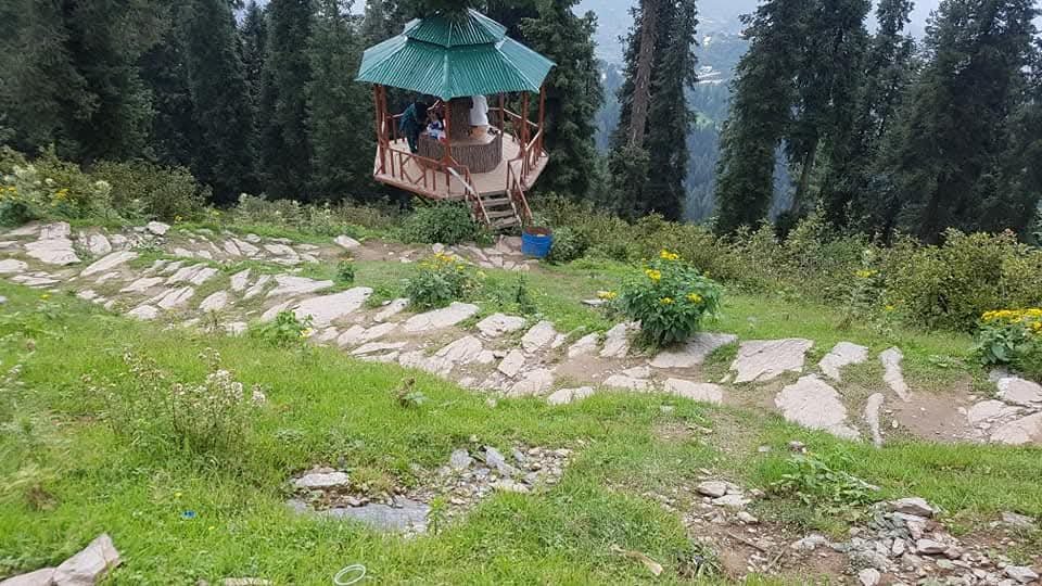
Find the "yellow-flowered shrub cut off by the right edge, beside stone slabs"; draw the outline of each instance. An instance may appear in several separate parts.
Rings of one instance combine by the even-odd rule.
[[[1012,366],[1042,378],[1042,308],[986,313],[975,349],[986,366]]]

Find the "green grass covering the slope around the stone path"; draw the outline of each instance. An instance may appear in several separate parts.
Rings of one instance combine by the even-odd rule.
[[[275,270],[247,262],[227,272],[247,266]],[[394,296],[416,270],[401,263],[355,266],[355,284],[384,296]],[[524,276],[536,306],[531,317],[550,319],[562,332],[603,330],[610,320],[581,301],[614,289],[627,270],[590,260],[535,270]],[[306,275],[329,278],[330,271],[334,265],[319,265]],[[474,300],[482,314],[516,310],[511,295],[519,273],[484,272],[485,286]],[[373,581],[391,584],[681,583],[676,556],[691,543],[679,518],[645,493],[671,494],[694,483],[702,468],[767,488],[787,470],[786,444],[793,438],[815,453],[846,455],[842,469],[879,485],[879,498],[918,495],[937,502],[964,531],[1004,510],[1042,515],[1038,449],[907,441],[875,450],[775,416],[658,395],[606,393],[557,408],[534,398],[500,399],[490,407],[484,395],[449,382],[332,349],[288,351],[250,336],[163,331],[71,296],[41,301],[38,291],[5,283],[0,295],[9,297],[0,316],[0,368],[24,367],[22,385],[0,386],[0,575],[59,563],[109,532],[126,560],[114,574],[117,585],[227,576],[329,584],[355,562],[366,564]],[[931,359],[965,357],[968,339],[884,334],[864,324],[841,330],[841,318],[835,309],[782,296],[729,294],[710,328],[744,340],[809,337],[818,356],[840,340],[875,351],[898,344],[914,385],[941,387],[978,375]],[[120,354],[132,348],[173,380],[199,381],[205,370],[198,355],[206,347],[221,353],[238,380],[267,388],[268,404],[251,416],[232,449],[198,454],[168,433],[130,442],[113,432],[104,403],[81,380],[93,372],[127,384]],[[725,368],[735,347],[717,351],[707,372]],[[876,367],[863,368],[872,374]],[[853,380],[874,378],[859,372]],[[407,377],[416,377],[428,397],[418,408],[394,399]],[[474,436],[503,449],[517,443],[570,447],[575,456],[559,485],[496,495],[441,534],[415,539],[297,517],[283,505],[287,480],[312,466],[343,462],[358,474],[416,485]],[[773,449],[760,454],[759,445]],[[846,528],[791,498],[773,497],[758,507],[761,518],[800,528]],[[181,518],[189,510],[195,519]],[[651,556],[666,572],[653,579],[638,563],[611,553],[613,545]]]

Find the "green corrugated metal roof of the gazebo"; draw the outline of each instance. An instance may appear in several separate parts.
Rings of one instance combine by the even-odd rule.
[[[554,62],[506,36],[480,12],[435,14],[366,50],[358,80],[443,100],[510,91],[538,92]]]

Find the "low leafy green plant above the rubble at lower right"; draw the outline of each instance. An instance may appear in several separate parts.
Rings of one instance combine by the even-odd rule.
[[[792,495],[805,505],[821,505],[830,509],[869,505],[878,498],[878,487],[837,470],[843,457],[826,461],[814,454],[797,454],[786,461],[788,471],[771,484],[780,495]]]

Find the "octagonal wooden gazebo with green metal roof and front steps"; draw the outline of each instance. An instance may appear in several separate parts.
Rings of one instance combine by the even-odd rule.
[[[543,84],[552,66],[474,10],[410,22],[401,35],[367,49],[358,72],[359,81],[373,84],[373,178],[431,200],[465,201],[476,220],[493,228],[528,221],[524,192],[547,163]],[[398,131],[402,114],[387,109],[387,87],[436,98],[430,113],[442,116],[444,132],[422,132],[414,153]],[[508,95],[517,93],[510,101],[520,103],[520,114],[507,107]],[[529,114],[534,93],[536,122]],[[491,102],[487,131],[472,132],[474,97]]]

